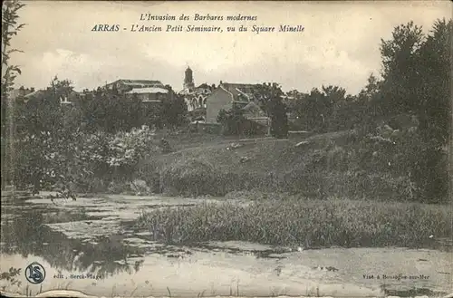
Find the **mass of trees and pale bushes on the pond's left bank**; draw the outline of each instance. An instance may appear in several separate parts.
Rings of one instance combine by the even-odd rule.
[[[62,99],[72,104],[62,105]],[[129,182],[139,159],[161,151],[149,126],[141,127],[180,125],[171,114],[183,113],[180,101],[170,99],[161,110],[147,110],[137,98],[117,91],[75,96],[71,82],[55,77],[46,91],[15,102],[15,175],[10,181],[34,191],[71,190],[71,197],[73,191],[107,191],[112,182]]]

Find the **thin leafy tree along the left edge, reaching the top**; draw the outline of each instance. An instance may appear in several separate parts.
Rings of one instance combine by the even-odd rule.
[[[14,101],[8,98],[13,90],[14,79],[21,70],[9,63],[10,55],[21,52],[11,49],[11,39],[25,24],[17,24],[18,11],[24,4],[17,0],[5,1],[2,4],[2,188],[14,180]],[[7,131],[7,132],[6,132]]]

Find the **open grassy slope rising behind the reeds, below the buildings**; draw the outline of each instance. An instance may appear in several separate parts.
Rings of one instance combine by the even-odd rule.
[[[176,151],[141,162],[141,178],[156,191],[186,196],[256,189],[307,197],[400,199],[406,195],[400,185],[404,178],[373,168],[363,170],[361,140],[354,131],[310,138],[196,136],[193,140],[169,139]]]

